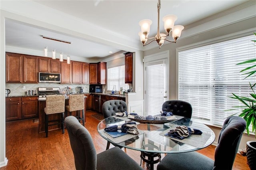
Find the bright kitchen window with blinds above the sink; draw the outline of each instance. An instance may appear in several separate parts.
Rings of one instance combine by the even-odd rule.
[[[118,67],[108,68],[108,81],[107,90],[112,91],[114,85],[116,85],[116,91],[123,89],[129,89],[129,84],[124,83],[125,78],[125,67],[124,65]]]

